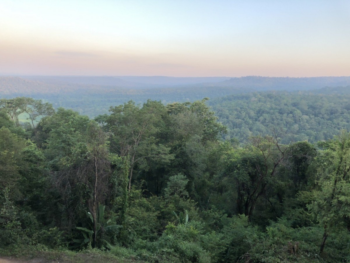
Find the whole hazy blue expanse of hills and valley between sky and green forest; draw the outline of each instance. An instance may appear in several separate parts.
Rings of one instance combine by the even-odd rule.
[[[90,117],[107,113],[110,106],[129,100],[137,104],[147,99],[171,103],[266,90],[349,94],[349,87],[350,77],[0,76],[0,98],[43,99],[55,108],[71,108]]]

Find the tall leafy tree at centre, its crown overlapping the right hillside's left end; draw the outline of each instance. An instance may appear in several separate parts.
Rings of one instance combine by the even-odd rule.
[[[217,122],[214,112],[205,104],[207,100],[167,105],[170,117],[168,145],[175,155],[170,175],[185,175],[189,180],[189,195],[201,203],[204,200],[207,203],[209,196],[203,196],[198,190],[207,181],[204,177],[213,176],[213,170],[209,172],[207,169],[210,166],[209,153],[220,143],[219,135],[226,131],[226,127]]]

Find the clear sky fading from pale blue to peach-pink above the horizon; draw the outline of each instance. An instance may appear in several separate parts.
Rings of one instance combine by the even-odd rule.
[[[350,1],[1,0],[0,75],[350,76]]]

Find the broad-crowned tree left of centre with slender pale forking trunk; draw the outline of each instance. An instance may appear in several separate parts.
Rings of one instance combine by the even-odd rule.
[[[111,107],[111,115],[99,116],[96,120],[104,123],[104,129],[111,134],[111,150],[120,156],[129,156],[129,184],[135,165],[147,157],[165,157],[171,159],[169,148],[159,143],[158,134],[162,126],[165,107],[161,102],[148,100],[142,108],[133,101]]]

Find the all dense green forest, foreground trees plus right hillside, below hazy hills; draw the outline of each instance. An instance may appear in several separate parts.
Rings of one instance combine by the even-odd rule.
[[[218,116],[206,103],[90,119],[1,99],[0,255],[349,262],[349,99],[252,93],[213,101]]]

